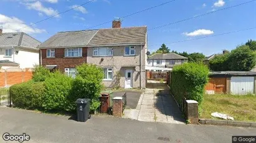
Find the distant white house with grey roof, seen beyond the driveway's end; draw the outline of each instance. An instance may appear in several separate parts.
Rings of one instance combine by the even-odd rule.
[[[176,53],[156,53],[148,58],[146,66],[173,68],[176,65],[187,63],[187,58]],[[153,69],[153,71],[164,71]]]

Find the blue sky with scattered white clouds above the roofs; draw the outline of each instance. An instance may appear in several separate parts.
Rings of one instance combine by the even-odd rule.
[[[256,40],[256,28],[244,30],[256,27],[256,1],[218,11],[247,1],[251,0],[176,0],[167,4],[163,4],[167,0],[0,0],[0,27],[3,32],[26,32],[44,42],[60,31],[111,28],[109,21],[113,19],[163,4],[125,17],[121,27],[146,25],[151,52],[166,43],[171,50],[209,56],[232,50],[249,39]],[[85,2],[88,3],[82,7],[56,15]],[[212,11],[217,12],[155,28]],[[108,23],[95,27],[104,22]],[[244,31],[192,40],[237,30]]]

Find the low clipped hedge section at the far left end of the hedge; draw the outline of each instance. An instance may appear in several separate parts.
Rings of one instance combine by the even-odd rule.
[[[44,83],[33,80],[10,87],[12,103],[24,109],[41,109],[43,93]]]

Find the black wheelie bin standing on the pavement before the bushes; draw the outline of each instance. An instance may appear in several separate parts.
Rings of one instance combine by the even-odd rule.
[[[90,99],[78,98],[75,103],[77,103],[77,121],[87,121],[90,118]]]

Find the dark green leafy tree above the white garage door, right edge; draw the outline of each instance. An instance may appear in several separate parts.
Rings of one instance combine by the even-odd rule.
[[[255,66],[255,53],[247,45],[232,50],[229,56],[229,69],[232,71],[250,71]]]

